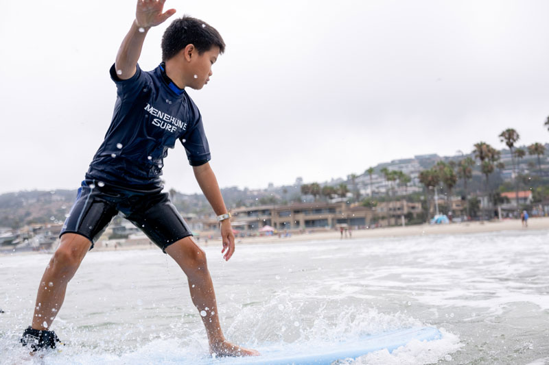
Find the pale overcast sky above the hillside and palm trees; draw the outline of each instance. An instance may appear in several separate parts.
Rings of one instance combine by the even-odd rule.
[[[78,188],[115,103],[108,69],[135,1],[5,1],[0,192]],[[471,151],[517,129],[548,142],[549,1],[175,1],[226,53],[204,89],[220,186],[326,181],[397,158]],[[165,27],[139,64],[161,60]],[[180,144],[167,188],[198,192]]]

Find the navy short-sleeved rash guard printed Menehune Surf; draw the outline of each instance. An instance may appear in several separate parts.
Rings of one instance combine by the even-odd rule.
[[[176,140],[191,166],[210,160],[209,145],[198,108],[165,75],[163,64],[148,72],[136,68],[127,80],[110,68],[117,86],[113,120],[86,176],[128,188],[158,188],[163,159]]]

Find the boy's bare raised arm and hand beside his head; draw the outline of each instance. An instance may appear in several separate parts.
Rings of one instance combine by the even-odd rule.
[[[176,10],[162,12],[166,0],[138,0],[135,21],[122,41],[116,55],[115,68],[119,79],[129,79],[135,74],[135,66],[148,30],[163,23]]]

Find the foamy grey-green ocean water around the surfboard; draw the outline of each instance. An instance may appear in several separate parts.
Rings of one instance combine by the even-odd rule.
[[[242,245],[229,262],[205,251],[226,338],[259,351],[432,326],[441,340],[340,364],[549,364],[548,231]],[[30,357],[18,341],[48,261],[0,256],[0,364],[207,355],[183,272],[152,249],[91,251],[52,326],[67,346]]]

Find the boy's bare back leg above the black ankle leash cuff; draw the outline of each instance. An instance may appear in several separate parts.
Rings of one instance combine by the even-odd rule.
[[[40,280],[32,317],[33,329],[49,329],[65,300],[67,284],[90,247],[90,240],[79,234],[61,236],[61,243]]]

